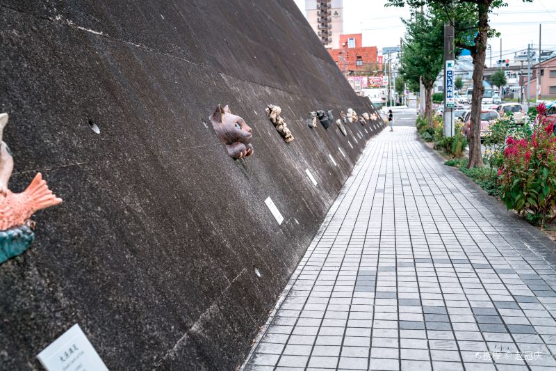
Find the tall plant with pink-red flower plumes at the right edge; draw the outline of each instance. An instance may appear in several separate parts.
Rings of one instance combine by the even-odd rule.
[[[556,201],[556,136],[544,104],[537,106],[530,138],[507,137],[498,176],[506,207],[544,228]]]

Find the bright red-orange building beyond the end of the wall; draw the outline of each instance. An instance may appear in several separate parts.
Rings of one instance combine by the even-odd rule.
[[[379,69],[377,47],[363,47],[362,37],[361,33],[340,35],[338,49],[328,49],[338,68],[346,75]]]

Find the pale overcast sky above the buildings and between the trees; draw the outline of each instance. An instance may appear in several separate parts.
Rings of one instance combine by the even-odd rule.
[[[305,1],[295,0],[302,13]],[[386,0],[343,0],[343,32],[363,33],[363,46],[393,47],[400,45],[404,26],[400,17],[409,18],[409,8],[385,8]],[[556,50],[556,0],[507,0],[490,17],[493,28],[502,33],[502,58],[512,59],[514,52],[527,49],[532,42],[539,49],[539,23],[542,23],[542,49]],[[493,65],[500,59],[500,39],[489,39]],[[489,65],[490,52],[486,54]]]

